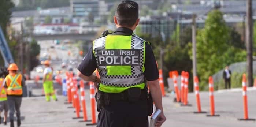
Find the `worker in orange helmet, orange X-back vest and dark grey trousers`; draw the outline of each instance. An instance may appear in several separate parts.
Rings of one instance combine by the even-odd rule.
[[[18,67],[15,63],[9,65],[9,74],[5,77],[5,87],[7,88],[7,101],[9,104],[10,127],[14,127],[14,110],[16,110],[17,126],[21,126],[21,101],[22,86],[25,80],[21,74],[18,74]]]

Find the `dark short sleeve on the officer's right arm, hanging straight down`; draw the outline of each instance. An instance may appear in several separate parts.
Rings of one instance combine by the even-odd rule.
[[[147,81],[154,81],[159,78],[158,68],[156,66],[156,59],[151,46],[146,43],[146,56],[145,56],[145,77]]]

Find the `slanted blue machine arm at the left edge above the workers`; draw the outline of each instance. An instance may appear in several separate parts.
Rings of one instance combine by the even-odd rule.
[[[3,59],[4,59],[5,67],[8,67],[8,65],[10,63],[14,63],[12,54],[11,54],[9,46],[5,40],[5,36],[4,36],[3,30],[1,29],[1,26],[0,26],[0,51],[1,51],[1,55],[3,56]]]

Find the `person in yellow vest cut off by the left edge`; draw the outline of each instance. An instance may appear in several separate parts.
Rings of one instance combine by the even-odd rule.
[[[4,125],[7,124],[7,113],[9,109],[9,105],[7,102],[7,90],[4,87],[4,78],[8,75],[8,72],[6,72],[5,68],[0,68],[0,115],[2,114],[4,110]],[[1,123],[1,116],[0,116],[0,123]]]

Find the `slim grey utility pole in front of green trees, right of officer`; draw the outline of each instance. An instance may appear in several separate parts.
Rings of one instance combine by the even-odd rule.
[[[192,45],[193,45],[193,81],[194,81],[194,76],[197,76],[197,60],[196,60],[196,14],[193,14],[193,19],[192,19]]]

